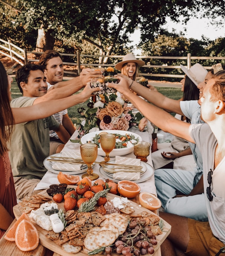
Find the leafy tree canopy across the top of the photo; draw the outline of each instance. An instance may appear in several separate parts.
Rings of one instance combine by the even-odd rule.
[[[20,31],[17,40],[25,38],[30,44],[36,37],[39,51],[55,46],[72,53],[85,48],[86,54],[124,55],[132,51],[125,46],[135,29],[141,31],[141,45],[154,42],[167,16],[175,22],[181,16],[186,22],[199,11],[212,20],[225,17],[224,0],[8,0],[14,9],[0,2],[4,34],[10,36],[7,28],[12,37]],[[180,39],[177,47],[185,48],[185,44]],[[107,58],[100,58],[100,63],[107,63]]]

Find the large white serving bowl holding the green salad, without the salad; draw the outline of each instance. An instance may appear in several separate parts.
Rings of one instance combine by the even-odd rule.
[[[95,135],[100,134],[101,132],[108,132],[112,134],[117,133],[121,135],[125,135],[127,133],[129,135],[134,135],[134,138],[138,138],[138,141],[142,141],[141,136],[134,132],[121,131],[121,130],[104,130],[104,131],[101,130],[101,131],[89,132],[88,134],[85,134],[84,136],[81,137],[81,143],[85,144],[85,143],[88,143],[89,141],[92,141]],[[110,157],[125,156],[127,154],[130,154],[133,151],[134,151],[134,146],[126,147],[126,148],[114,148],[113,151],[110,152]],[[105,152],[101,148],[98,148],[98,155],[105,156]]]

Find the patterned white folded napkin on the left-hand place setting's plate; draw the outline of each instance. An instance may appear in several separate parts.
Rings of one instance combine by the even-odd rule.
[[[72,157],[72,158],[78,158],[81,157],[80,152],[63,152],[61,154],[62,157]],[[81,169],[82,164],[74,164],[74,163],[58,163],[58,162],[52,162],[52,168],[57,171],[68,171],[68,172],[76,172]]]

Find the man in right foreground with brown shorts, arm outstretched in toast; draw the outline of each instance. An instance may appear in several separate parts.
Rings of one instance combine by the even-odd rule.
[[[165,132],[195,143],[203,160],[203,186],[209,221],[196,221],[167,212],[160,217],[172,225],[161,245],[162,256],[215,256],[225,250],[225,71],[214,74],[199,99],[205,124],[188,124],[134,95],[123,77],[117,89],[153,124]]]

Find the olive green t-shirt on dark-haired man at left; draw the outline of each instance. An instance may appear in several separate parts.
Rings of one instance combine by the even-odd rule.
[[[36,97],[19,97],[11,102],[12,108],[32,106]],[[49,129],[57,129],[59,122],[48,118],[16,124],[9,143],[9,158],[13,176],[42,179],[46,173],[43,161],[49,156]]]

